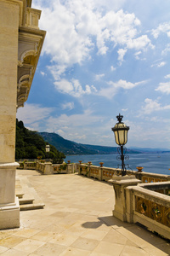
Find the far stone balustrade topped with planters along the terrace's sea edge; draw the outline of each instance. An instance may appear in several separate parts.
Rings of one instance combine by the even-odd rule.
[[[62,166],[65,164],[60,165],[52,165],[51,162],[41,162],[41,161],[20,161],[20,169],[30,169],[30,170],[38,170],[42,173],[46,173],[44,171],[47,169],[45,166],[50,164],[50,173],[73,173],[78,172],[80,175],[84,175],[87,177],[94,177],[99,180],[108,181],[111,179],[113,175],[121,176],[122,172],[121,169],[117,168],[110,168],[105,166],[93,166],[91,163],[89,164],[82,164],[80,163],[67,163],[67,167],[64,170]],[[61,167],[60,167],[61,166]],[[127,175],[134,175],[137,179],[141,180],[142,183],[157,183],[157,182],[166,182],[170,181],[170,175],[164,174],[157,174],[157,173],[150,173],[150,172],[138,172],[138,171],[131,171],[127,170]]]

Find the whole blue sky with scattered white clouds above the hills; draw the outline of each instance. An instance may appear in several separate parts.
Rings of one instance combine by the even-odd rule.
[[[170,21],[167,0],[33,0],[47,31],[17,118],[77,143],[170,148]]]

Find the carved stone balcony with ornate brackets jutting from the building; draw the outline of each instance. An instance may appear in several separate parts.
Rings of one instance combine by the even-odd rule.
[[[40,30],[19,30],[17,108],[24,107],[29,95],[44,37]]]

